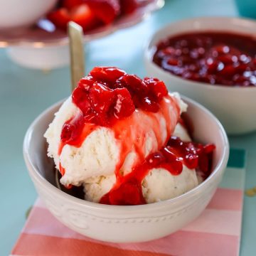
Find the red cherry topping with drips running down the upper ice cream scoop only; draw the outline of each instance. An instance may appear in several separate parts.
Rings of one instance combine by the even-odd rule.
[[[163,100],[164,97],[166,100]],[[170,124],[168,137],[174,130],[180,112],[176,100],[169,97],[164,82],[155,78],[141,80],[118,68],[97,67],[91,70],[87,77],[78,82],[72,101],[80,112],[63,125],[58,154],[61,154],[65,144],[80,147],[95,129],[111,127],[115,138],[122,142],[117,169],[122,166],[133,146],[140,156],[138,161],[143,159],[145,130],[153,129],[157,142],[162,146],[159,120],[154,116],[156,112]],[[169,114],[170,104],[174,107],[173,120]],[[60,169],[64,170],[62,166]]]

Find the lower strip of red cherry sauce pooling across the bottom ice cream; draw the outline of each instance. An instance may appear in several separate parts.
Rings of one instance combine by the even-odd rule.
[[[132,206],[145,204],[142,194],[142,181],[149,170],[163,168],[172,175],[179,175],[185,164],[189,169],[200,169],[203,178],[210,174],[211,161],[215,146],[194,142],[182,142],[178,137],[171,137],[166,146],[156,151],[126,176],[117,176],[117,182],[109,193],[102,196],[100,203]]]

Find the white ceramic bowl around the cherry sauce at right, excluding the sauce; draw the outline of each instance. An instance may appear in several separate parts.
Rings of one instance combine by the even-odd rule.
[[[147,75],[166,82],[171,91],[191,97],[206,106],[220,119],[228,134],[243,134],[256,130],[256,88],[208,85],[203,82],[185,80],[163,70],[153,63],[154,46],[161,39],[193,31],[229,31],[256,35],[256,21],[242,18],[193,18],[157,31],[146,46],[145,65]]]

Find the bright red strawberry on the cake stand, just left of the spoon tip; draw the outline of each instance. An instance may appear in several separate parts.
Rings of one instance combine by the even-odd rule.
[[[67,24],[70,21],[70,14],[68,9],[60,8],[48,14],[48,19],[57,27],[66,29]]]

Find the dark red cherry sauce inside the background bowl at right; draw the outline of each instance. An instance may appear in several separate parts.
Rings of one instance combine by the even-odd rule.
[[[184,33],[159,42],[153,61],[188,80],[212,85],[256,85],[256,38],[253,36]]]

